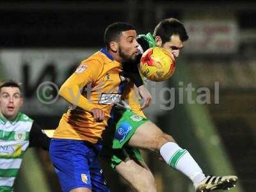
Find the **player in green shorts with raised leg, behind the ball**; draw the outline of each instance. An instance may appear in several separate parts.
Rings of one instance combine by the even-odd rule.
[[[164,19],[157,24],[153,35],[147,33],[147,35],[137,37],[141,51],[138,61],[144,51],[156,46],[169,49],[177,58],[186,40],[188,40],[188,35],[182,22],[173,18]],[[140,95],[150,94],[143,86],[137,67],[124,65],[124,71],[128,72],[138,87]],[[150,97],[146,98],[150,100]],[[143,104],[144,107],[145,104]],[[154,177],[143,161],[138,148],[159,152],[166,164],[191,179],[195,191],[225,190],[234,187],[237,181],[237,177],[233,175],[222,177],[204,175],[188,150],[179,147],[172,136],[164,133],[157,125],[150,122],[142,111],[140,114],[134,113],[132,104],[122,102],[121,106],[116,107],[115,113],[108,122],[108,129],[104,133],[103,141],[102,156],[136,191],[156,191]]]

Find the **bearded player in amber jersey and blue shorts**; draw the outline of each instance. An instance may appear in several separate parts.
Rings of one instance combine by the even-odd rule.
[[[115,102],[122,95],[141,114],[133,89],[123,93],[129,78],[122,74],[122,63],[138,56],[136,31],[117,22],[106,28],[107,49],[100,49],[82,61],[76,72],[61,86],[59,94],[72,104],[53,134],[50,155],[63,191],[109,191],[97,160],[102,131]],[[91,93],[86,91],[88,86]]]

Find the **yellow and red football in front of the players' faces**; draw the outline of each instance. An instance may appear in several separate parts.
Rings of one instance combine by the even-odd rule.
[[[164,81],[175,71],[175,58],[168,49],[152,47],[140,60],[140,72],[150,81]]]

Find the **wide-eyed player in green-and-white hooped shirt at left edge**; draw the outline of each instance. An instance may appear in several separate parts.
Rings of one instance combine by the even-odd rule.
[[[0,191],[13,191],[13,184],[26,150],[49,150],[51,139],[24,113],[23,99],[15,81],[0,83]]]

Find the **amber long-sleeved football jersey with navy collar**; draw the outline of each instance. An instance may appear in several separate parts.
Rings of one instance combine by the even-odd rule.
[[[129,78],[122,76],[122,65],[104,49],[83,60],[60,88],[61,97],[72,107],[63,114],[53,138],[97,143],[107,125],[113,104],[120,102],[128,82]],[[134,103],[132,90],[128,90],[125,99]],[[95,122],[92,113],[88,112],[93,108],[104,111],[102,122]],[[135,108],[139,110],[140,105]]]

